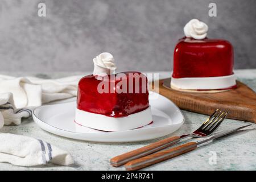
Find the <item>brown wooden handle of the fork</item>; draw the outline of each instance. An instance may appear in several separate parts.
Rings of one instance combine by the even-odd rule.
[[[148,146],[144,146],[138,148],[137,150],[133,150],[125,154],[115,156],[114,158],[110,159],[110,164],[114,167],[122,166],[123,164],[126,164],[130,160],[142,158],[143,156],[152,154],[154,152],[162,150],[163,148],[170,147],[173,144],[179,142],[179,140],[180,137],[177,136],[159,140],[158,142],[149,144]]]

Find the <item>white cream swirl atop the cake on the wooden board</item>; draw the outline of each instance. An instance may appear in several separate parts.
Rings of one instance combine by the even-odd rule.
[[[200,22],[198,19],[192,19],[185,25],[183,30],[187,38],[201,40],[206,38],[208,26],[204,22]]]

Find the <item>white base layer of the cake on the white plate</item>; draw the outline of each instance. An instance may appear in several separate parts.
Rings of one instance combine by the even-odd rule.
[[[137,129],[152,122],[151,107],[127,117],[108,117],[89,113],[76,108],[75,122],[79,125],[102,131],[123,131]]]

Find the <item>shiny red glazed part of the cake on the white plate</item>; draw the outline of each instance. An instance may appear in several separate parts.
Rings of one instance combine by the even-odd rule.
[[[118,93],[120,89],[118,86],[115,89],[118,82],[122,80],[119,77],[115,77],[112,80],[104,80],[104,82],[109,83],[109,93],[98,92],[98,84],[101,82],[101,80],[97,80],[98,76],[88,75],[81,78],[77,92],[77,108],[109,117],[126,117],[129,114],[147,109],[149,106],[147,77],[140,72],[122,73],[126,75],[123,82],[126,81],[127,83],[127,93]],[[129,77],[129,73],[134,77]],[[129,93],[128,90],[129,80],[131,81],[131,79],[133,79],[133,93]],[[135,79],[140,79],[139,93],[135,93]],[[142,79],[145,79],[146,82],[143,82]],[[142,93],[142,90],[146,90],[146,92]]]

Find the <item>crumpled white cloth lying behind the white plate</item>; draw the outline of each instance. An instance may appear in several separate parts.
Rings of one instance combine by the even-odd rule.
[[[30,117],[36,106],[76,96],[81,77],[51,80],[0,75],[0,129],[11,123],[19,125],[21,118]]]

